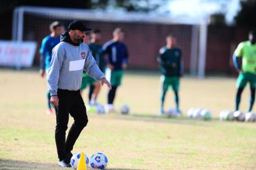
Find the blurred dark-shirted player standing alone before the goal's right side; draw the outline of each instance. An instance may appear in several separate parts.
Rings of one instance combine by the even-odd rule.
[[[165,94],[169,86],[175,94],[176,111],[181,114],[179,108],[178,89],[180,77],[183,74],[182,51],[176,46],[176,38],[172,35],[166,37],[166,46],[160,49],[157,57],[161,69],[161,108],[159,115],[163,115]]]

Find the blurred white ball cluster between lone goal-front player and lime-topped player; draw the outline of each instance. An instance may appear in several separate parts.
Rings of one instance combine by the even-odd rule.
[[[211,111],[202,108],[190,108],[187,111],[189,118],[198,118],[202,120],[211,120]]]

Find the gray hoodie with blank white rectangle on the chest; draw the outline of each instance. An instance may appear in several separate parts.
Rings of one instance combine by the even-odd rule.
[[[105,77],[91,55],[90,48],[85,43],[71,42],[66,31],[61,35],[61,42],[52,49],[52,60],[47,71],[50,96],[57,95],[57,89],[80,89],[83,70],[98,81]]]

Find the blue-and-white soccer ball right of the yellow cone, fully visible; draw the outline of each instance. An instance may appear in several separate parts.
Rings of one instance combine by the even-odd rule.
[[[90,166],[94,169],[105,169],[107,167],[107,163],[107,156],[100,152],[97,152],[91,156]]]

